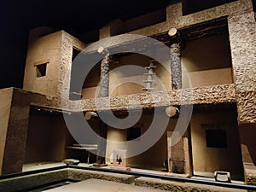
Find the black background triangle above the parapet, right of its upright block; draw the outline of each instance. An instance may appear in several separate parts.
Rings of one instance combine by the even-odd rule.
[[[201,10],[235,1],[236,0],[183,0],[183,15],[193,14]]]

